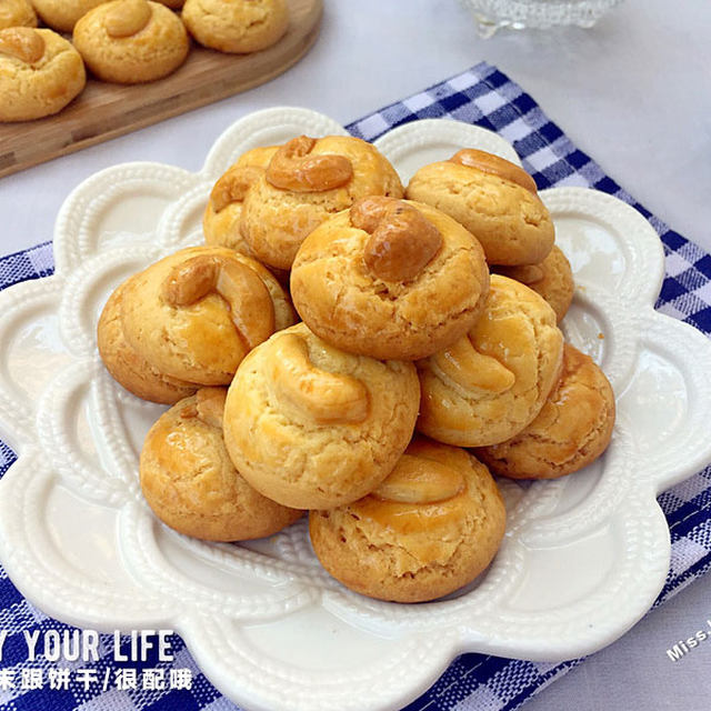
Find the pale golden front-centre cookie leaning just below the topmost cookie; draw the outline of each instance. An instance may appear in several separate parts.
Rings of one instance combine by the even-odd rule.
[[[327,509],[388,475],[412,437],[419,402],[412,363],[346,353],[299,323],[240,364],[224,440],[234,465],[266,497]]]

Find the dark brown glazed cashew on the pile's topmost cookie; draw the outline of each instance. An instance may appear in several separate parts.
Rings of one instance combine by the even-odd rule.
[[[351,207],[351,223],[370,238],[365,267],[384,281],[414,279],[442,247],[440,231],[415,208],[395,198],[362,198]]]

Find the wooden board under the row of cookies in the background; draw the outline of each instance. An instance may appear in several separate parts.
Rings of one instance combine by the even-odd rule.
[[[323,0],[287,2],[287,34],[261,52],[223,54],[193,42],[186,63],[166,79],[127,87],[90,79],[59,113],[0,124],[0,178],[273,79],[311,48],[323,13]]]

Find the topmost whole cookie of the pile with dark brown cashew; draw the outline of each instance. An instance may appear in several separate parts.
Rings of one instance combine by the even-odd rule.
[[[489,289],[479,242],[430,206],[364,198],[317,228],[291,272],[309,328],[343,350],[415,360],[477,321]]]

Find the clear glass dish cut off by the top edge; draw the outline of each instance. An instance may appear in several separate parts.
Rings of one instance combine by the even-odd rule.
[[[592,27],[621,0],[461,0],[477,20],[479,34],[491,37],[501,28],[544,29],[557,24]]]

